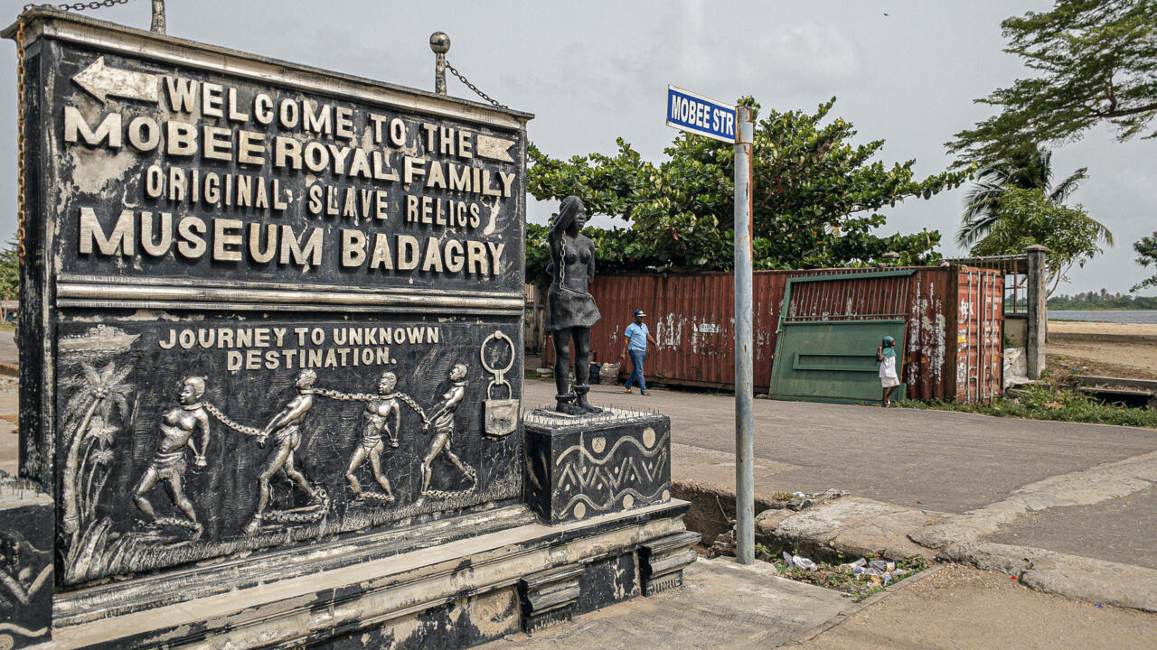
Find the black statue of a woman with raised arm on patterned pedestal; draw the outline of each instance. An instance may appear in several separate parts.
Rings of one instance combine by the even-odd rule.
[[[555,411],[567,415],[600,413],[587,402],[590,377],[590,327],[603,316],[587,286],[595,279],[595,242],[581,232],[587,208],[567,197],[551,223],[551,288],[546,293],[546,331],[554,339]],[[570,386],[570,341],[575,345],[575,384]]]

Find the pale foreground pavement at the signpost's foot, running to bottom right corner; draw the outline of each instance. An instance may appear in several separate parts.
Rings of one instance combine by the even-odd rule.
[[[769,564],[700,560],[683,589],[600,610],[480,650],[955,649],[1157,647],[1157,616],[1029,591],[1008,576],[942,566],[863,603],[776,577]]]

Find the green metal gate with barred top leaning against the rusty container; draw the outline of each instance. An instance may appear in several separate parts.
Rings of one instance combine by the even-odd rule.
[[[876,347],[896,339],[893,399],[904,399],[905,306],[912,271],[789,279],[783,291],[769,394],[845,404],[880,400]]]

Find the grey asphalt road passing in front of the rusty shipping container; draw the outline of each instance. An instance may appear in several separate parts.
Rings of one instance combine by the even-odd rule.
[[[676,477],[735,485],[732,397],[663,390],[627,396],[617,386],[592,392],[595,404],[651,408],[671,418]],[[554,386],[528,381],[525,393],[528,405],[548,404]],[[840,488],[953,514],[1002,501],[1051,477],[1157,450],[1151,429],[761,399],[754,411],[758,492]],[[1157,497],[1141,490],[1126,507],[1120,502],[1051,508],[998,534],[1015,534],[1024,546],[1157,568]]]

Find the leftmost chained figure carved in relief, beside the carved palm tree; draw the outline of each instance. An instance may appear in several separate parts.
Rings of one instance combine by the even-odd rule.
[[[148,468],[141,475],[133,490],[133,501],[153,523],[187,527],[193,531],[191,541],[201,537],[201,524],[197,520],[193,503],[185,496],[185,451],[192,450],[193,464],[205,467],[205,452],[209,444],[209,416],[201,404],[205,394],[205,377],[186,377],[180,385],[180,405],[164,414],[161,421],[161,440],[156,453]],[[193,441],[193,434],[200,428],[200,448]],[[163,482],[168,488],[172,504],[185,515],[185,519],[156,516],[148,493]]]

